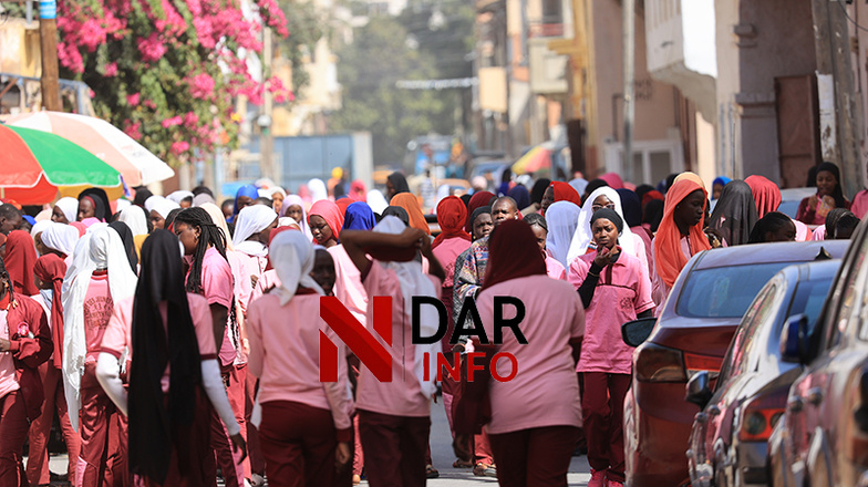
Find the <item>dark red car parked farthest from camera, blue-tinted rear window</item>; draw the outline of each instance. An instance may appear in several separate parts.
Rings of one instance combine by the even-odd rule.
[[[690,481],[684,452],[696,407],[684,401],[688,380],[700,371],[716,377],[742,315],[772,276],[818,257],[840,258],[846,246],[757,244],[700,252],[681,271],[655,324],[645,319],[623,325],[624,341],[639,345],[624,400],[628,485]]]

